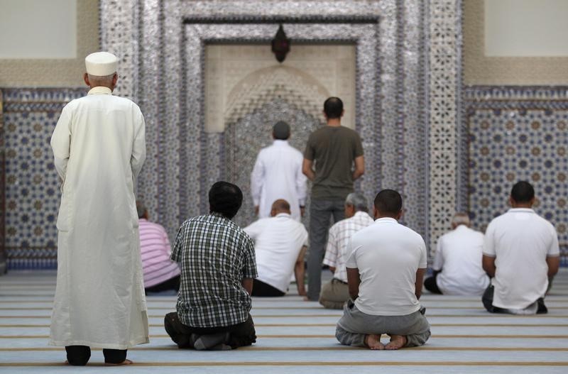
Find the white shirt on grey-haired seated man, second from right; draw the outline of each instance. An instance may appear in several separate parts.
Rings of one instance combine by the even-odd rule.
[[[484,234],[459,225],[438,238],[434,270],[444,295],[483,295],[489,277],[481,265]]]

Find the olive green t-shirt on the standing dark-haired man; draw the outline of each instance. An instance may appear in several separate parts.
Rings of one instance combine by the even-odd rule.
[[[359,134],[344,126],[323,126],[307,139],[304,158],[315,161],[312,198],[345,199],[353,192],[352,166],[363,155]]]

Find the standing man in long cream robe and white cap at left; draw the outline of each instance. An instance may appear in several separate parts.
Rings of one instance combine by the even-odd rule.
[[[109,365],[128,364],[127,348],[149,341],[134,198],[144,118],[111,94],[117,61],[85,58],[91,89],[63,108],[51,138],[62,196],[50,344],[65,346],[71,365],[86,365],[90,348],[103,348]]]

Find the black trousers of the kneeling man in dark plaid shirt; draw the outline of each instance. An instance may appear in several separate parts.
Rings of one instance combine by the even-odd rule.
[[[178,344],[180,348],[194,348],[191,343],[191,335],[209,335],[228,332],[229,346],[238,348],[250,346],[256,342],[256,331],[254,330],[253,317],[249,314],[249,318],[241,324],[232,326],[219,327],[192,327],[182,324],[178,317],[178,312],[171,312],[164,318],[165,332],[168,333],[173,342]]]

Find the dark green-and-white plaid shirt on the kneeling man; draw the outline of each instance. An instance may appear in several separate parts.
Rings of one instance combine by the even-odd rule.
[[[178,316],[192,327],[240,324],[249,317],[251,297],[243,278],[256,278],[253,240],[220,214],[185,221],[172,251],[180,264]]]

